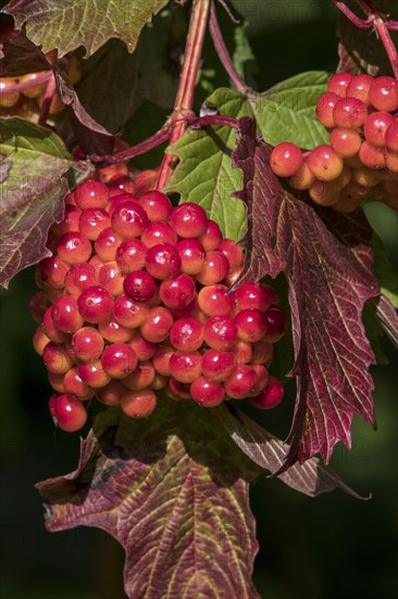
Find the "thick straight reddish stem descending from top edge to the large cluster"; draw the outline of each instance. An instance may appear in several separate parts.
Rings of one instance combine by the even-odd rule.
[[[170,145],[179,139],[186,129],[186,119],[191,114],[195,85],[200,66],[206,28],[208,24],[210,0],[194,0],[189,30],[185,46],[183,70],[179,76],[177,96],[172,114]],[[175,157],[166,155],[159,170],[157,190],[162,190],[171,176]]]

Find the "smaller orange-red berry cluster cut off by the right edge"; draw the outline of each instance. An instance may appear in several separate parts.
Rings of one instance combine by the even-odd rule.
[[[322,206],[350,212],[366,198],[398,209],[398,82],[337,73],[316,102],[329,144],[302,152],[289,142],[271,154],[275,174]]]

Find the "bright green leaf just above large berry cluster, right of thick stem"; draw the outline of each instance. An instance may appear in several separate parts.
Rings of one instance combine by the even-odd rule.
[[[202,206],[223,235],[237,241],[246,231],[246,211],[239,199],[231,197],[241,187],[240,173],[231,161],[235,140],[236,133],[231,127],[187,131],[166,150],[179,162],[165,192],[181,194],[183,203]]]

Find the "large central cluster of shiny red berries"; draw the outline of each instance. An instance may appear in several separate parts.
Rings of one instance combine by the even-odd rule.
[[[208,407],[231,398],[273,407],[283,388],[268,367],[286,328],[276,292],[246,282],[227,293],[241,248],[200,206],[173,208],[134,186],[94,180],[69,194],[50,230],[53,255],[37,267],[34,346],[55,391],[53,418],[78,430],[94,396],[147,416],[161,389]]]

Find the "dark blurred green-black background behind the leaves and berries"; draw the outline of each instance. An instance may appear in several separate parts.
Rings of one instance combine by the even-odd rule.
[[[235,1],[247,15],[259,88],[307,70],[337,64],[337,11],[328,0]],[[206,68],[206,65],[203,65]],[[151,107],[146,107],[146,115]],[[153,110],[153,130],[159,113]],[[137,166],[140,166],[137,162]],[[398,256],[397,215],[366,208],[393,258]],[[396,265],[397,266],[397,265]],[[18,274],[1,307],[1,585],[3,599],[120,599],[123,551],[100,530],[49,534],[35,482],[75,468],[78,435],[54,429],[47,411],[50,389],[32,347],[35,323],[27,304],[33,269]],[[252,486],[260,552],[254,579],[264,599],[393,599],[398,597],[398,379],[397,353],[385,341],[388,366],[373,368],[377,432],[358,418],[352,450],[338,445],[333,467],[358,492],[309,499],[265,477]],[[262,424],[288,432],[294,389]]]

